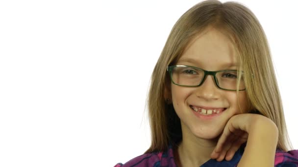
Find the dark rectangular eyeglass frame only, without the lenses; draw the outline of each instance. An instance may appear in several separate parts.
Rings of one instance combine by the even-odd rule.
[[[199,85],[189,86],[189,85],[176,84],[176,83],[174,83],[174,81],[173,81],[173,77],[172,77],[172,75],[173,75],[172,71],[173,71],[173,68],[174,68],[174,67],[192,67],[192,68],[196,68],[196,69],[199,69],[199,70],[204,71],[204,77],[203,77],[203,79],[201,80],[201,83],[200,83]],[[179,85],[179,86],[198,87],[198,86],[202,85],[202,84],[205,82],[205,79],[206,79],[206,77],[207,77],[208,75],[212,75],[212,76],[213,76],[213,79],[214,79],[214,81],[215,81],[215,84],[216,84],[216,86],[217,86],[218,88],[223,89],[223,90],[237,91],[237,90],[232,90],[232,89],[224,89],[224,88],[221,88],[221,87],[219,86],[219,84],[218,84],[218,80],[217,80],[217,78],[216,78],[216,73],[218,73],[218,72],[222,72],[222,71],[236,71],[236,72],[237,72],[238,70],[207,71],[207,70],[201,69],[201,68],[199,68],[199,67],[194,67],[194,66],[190,66],[190,65],[171,65],[171,66],[168,66],[168,67],[167,67],[167,71],[170,73],[170,78],[171,78],[172,83],[173,83],[173,84],[176,84],[176,85]],[[239,71],[239,72],[241,72],[242,74],[244,74],[243,71]],[[246,88],[245,88],[245,89],[246,89]],[[243,91],[243,90],[245,90],[245,89],[241,89],[241,90],[239,90],[239,91]]]

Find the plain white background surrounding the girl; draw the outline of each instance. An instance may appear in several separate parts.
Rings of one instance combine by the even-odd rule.
[[[297,5],[239,1],[268,37],[298,149]],[[151,72],[198,2],[1,0],[0,166],[112,167],[143,154]]]

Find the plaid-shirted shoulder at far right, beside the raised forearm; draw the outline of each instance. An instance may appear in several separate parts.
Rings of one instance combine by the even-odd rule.
[[[298,150],[284,152],[280,149],[276,150],[275,167],[298,167]]]

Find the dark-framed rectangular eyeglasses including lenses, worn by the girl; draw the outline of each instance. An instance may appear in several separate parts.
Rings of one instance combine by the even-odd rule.
[[[172,65],[168,66],[167,71],[173,84],[180,86],[195,87],[204,83],[207,75],[212,75],[215,84],[218,88],[224,90],[237,90],[239,84],[239,91],[245,90],[245,83],[242,75],[243,71],[238,70],[221,70],[221,71],[206,71],[198,67],[188,65]],[[237,83],[237,79],[238,83]]]

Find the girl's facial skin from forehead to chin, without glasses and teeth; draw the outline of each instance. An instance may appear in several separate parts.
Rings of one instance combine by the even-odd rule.
[[[230,65],[232,64],[232,65]],[[232,42],[220,31],[210,28],[190,42],[175,65],[191,65],[208,71],[237,69],[235,49]],[[185,87],[171,84],[174,109],[181,120],[183,134],[193,134],[200,139],[215,139],[224,129],[227,121],[236,114],[248,110],[246,91],[220,89],[213,76],[208,75],[199,87]],[[202,108],[226,108],[210,119],[198,117],[192,106]],[[209,108],[207,108],[209,107]]]

